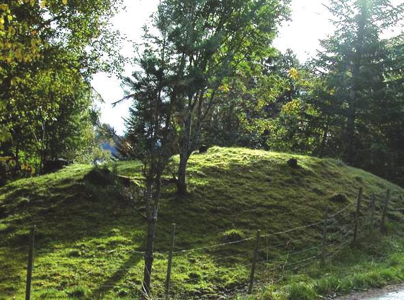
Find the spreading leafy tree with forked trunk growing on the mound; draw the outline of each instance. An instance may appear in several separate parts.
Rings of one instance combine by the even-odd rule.
[[[267,55],[288,1],[165,0],[170,21],[167,47],[173,66],[180,162],[178,193],[187,191],[189,156],[198,148],[203,124],[226,90],[237,66]]]

